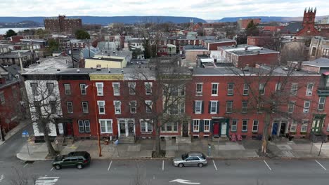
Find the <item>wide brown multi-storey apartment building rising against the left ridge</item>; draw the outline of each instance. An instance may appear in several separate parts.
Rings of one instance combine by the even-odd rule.
[[[59,15],[58,18],[44,19],[44,27],[53,33],[73,33],[82,28],[80,18],[66,18],[65,15]]]

